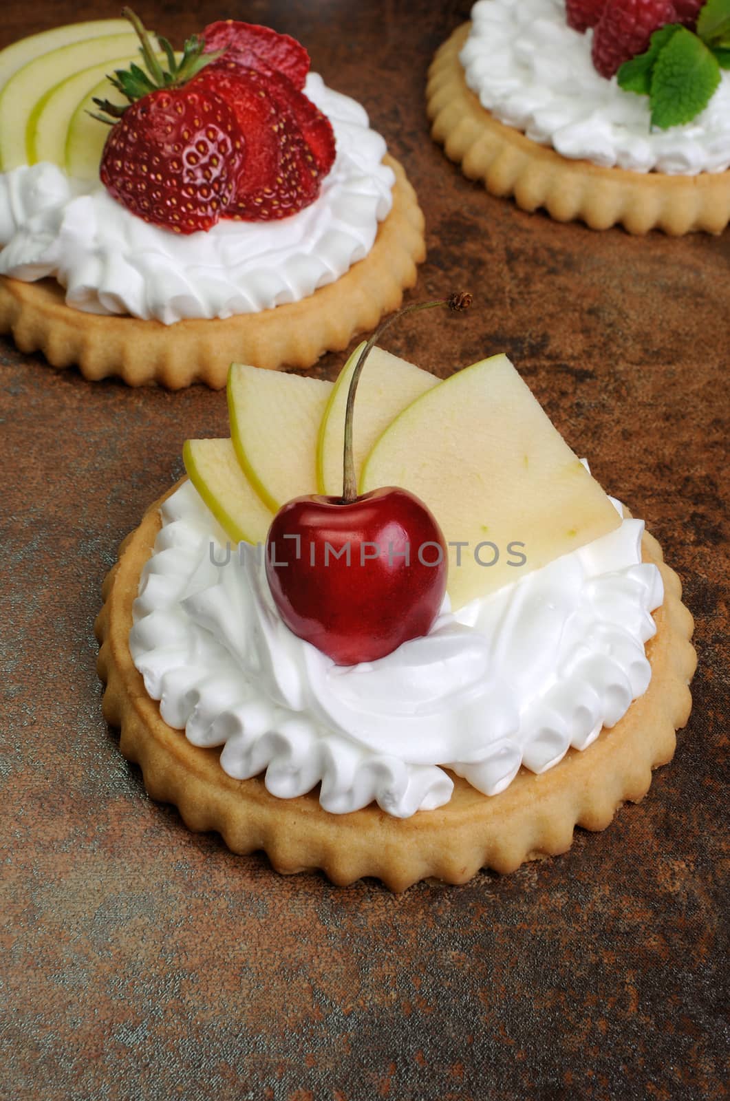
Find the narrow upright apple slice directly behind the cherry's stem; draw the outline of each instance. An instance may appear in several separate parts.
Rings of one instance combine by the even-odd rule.
[[[364,341],[359,345],[335,382],[317,438],[317,487],[320,493],[336,497],[342,492],[342,450],[345,447],[345,411],[350,379]],[[356,477],[378,437],[407,405],[438,385],[429,371],[422,371],[405,359],[373,348],[368,357],[368,370],[358,385],[358,403],[352,428],[352,451]]]

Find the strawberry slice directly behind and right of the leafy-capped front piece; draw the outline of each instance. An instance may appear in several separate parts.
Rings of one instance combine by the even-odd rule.
[[[319,194],[322,174],[276,85],[257,69],[214,62],[203,84],[233,110],[246,139],[246,163],[238,174],[227,217],[271,221],[296,214]]]

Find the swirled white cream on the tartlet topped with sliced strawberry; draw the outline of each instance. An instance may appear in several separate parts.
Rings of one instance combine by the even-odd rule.
[[[142,221],[101,184],[80,185],[47,162],[22,166],[0,175],[0,274],[53,275],[76,309],[165,325],[269,309],[334,282],[372,248],[395,177],[359,103],[316,73],[305,91],[337,142],[335,164],[306,209],[181,236]]]

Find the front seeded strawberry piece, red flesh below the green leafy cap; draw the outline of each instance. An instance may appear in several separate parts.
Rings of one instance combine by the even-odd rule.
[[[144,221],[194,233],[227,210],[244,163],[232,108],[193,83],[131,103],[109,131],[99,175],[109,194]]]

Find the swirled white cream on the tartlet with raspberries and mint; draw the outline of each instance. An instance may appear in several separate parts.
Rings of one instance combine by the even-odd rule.
[[[592,31],[566,23],[564,0],[479,0],[460,53],[482,107],[563,156],[632,172],[696,175],[730,167],[730,72],[696,119],[652,130],[649,98],[593,68]]]

